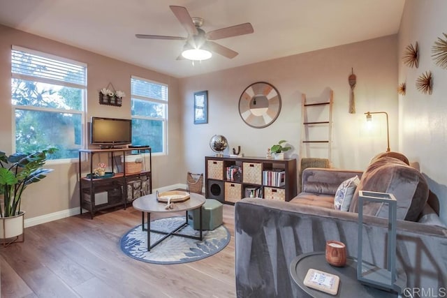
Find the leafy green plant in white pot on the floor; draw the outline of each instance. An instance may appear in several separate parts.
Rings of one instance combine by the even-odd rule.
[[[15,153],[6,156],[0,151],[0,239],[16,241],[23,234],[24,211],[20,210],[22,194],[29,184],[41,181],[52,169],[43,169],[47,154],[57,149],[49,148],[31,154]]]

